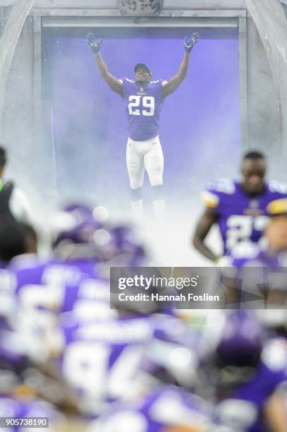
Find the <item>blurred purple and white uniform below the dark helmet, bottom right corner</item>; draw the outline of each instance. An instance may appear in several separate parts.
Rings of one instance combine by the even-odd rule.
[[[287,379],[285,340],[270,340],[262,351],[262,360],[253,378],[240,385],[216,407],[216,419],[236,431],[267,432],[264,405]]]

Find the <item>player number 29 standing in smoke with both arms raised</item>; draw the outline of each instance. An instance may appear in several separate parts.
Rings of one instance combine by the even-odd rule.
[[[111,75],[101,56],[102,40],[93,33],[87,35],[87,43],[96,56],[97,66],[109,88],[123,98],[128,116],[128,144],[126,162],[130,178],[132,210],[136,217],[142,216],[142,182],[145,169],[154,189],[154,212],[164,214],[162,199],[162,176],[164,156],[159,142],[159,114],[166,96],[171,95],[184,80],[188,71],[190,52],[197,43],[198,34],[185,37],[185,55],[178,73],[169,81],[152,80],[152,73],[146,64],[136,64],[134,79],[118,80]]]

